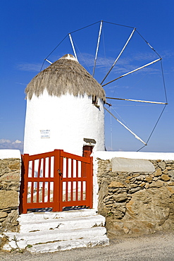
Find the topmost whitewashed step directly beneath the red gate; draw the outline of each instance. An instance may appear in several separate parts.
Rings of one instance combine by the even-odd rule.
[[[18,218],[19,222],[28,222],[31,220],[39,221],[44,219],[71,219],[74,217],[88,217],[88,216],[97,216],[96,210],[69,210],[63,212],[37,212],[37,213],[28,213],[20,214]]]

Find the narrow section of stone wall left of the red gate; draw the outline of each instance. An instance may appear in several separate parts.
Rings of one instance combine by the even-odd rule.
[[[0,159],[0,233],[18,231],[20,158]]]

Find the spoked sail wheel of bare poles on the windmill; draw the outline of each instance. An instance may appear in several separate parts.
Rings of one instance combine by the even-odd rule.
[[[104,29],[104,26],[106,26],[106,29]],[[109,26],[112,27],[112,29],[109,29]],[[96,30],[96,35],[94,35],[94,33],[90,34],[89,30],[92,27],[97,27]],[[122,30],[125,30],[125,32],[123,33],[123,35],[121,34],[121,37],[116,37],[116,34],[114,34],[112,32],[113,27],[118,28],[119,32],[122,32]],[[108,29],[108,32],[106,32],[106,30]],[[81,38],[76,37],[75,34],[78,34],[79,32],[85,31],[87,30],[89,33],[89,37],[87,38],[83,38],[85,44],[82,44],[82,49],[80,49],[80,45],[77,44],[78,40],[82,40]],[[77,41],[75,40],[75,37],[77,39]],[[94,51],[93,51],[93,56],[89,55],[89,45],[91,44],[89,38],[92,37],[95,43],[95,47],[94,47]],[[102,42],[102,37],[103,37],[103,45],[101,47],[101,42]],[[134,61],[136,61],[137,63],[133,64],[133,66],[130,66],[130,63],[128,63],[128,56],[126,58],[125,56],[125,52],[128,52],[128,47],[130,47],[132,40],[133,39],[137,40],[137,45],[135,45],[135,54],[133,56],[132,52],[130,51],[130,61],[132,61],[132,63],[134,63]],[[111,45],[108,46],[108,48],[110,49],[110,53],[112,53],[112,59],[110,59],[111,56],[109,56],[109,52],[108,52],[108,57],[109,59],[105,56],[101,57],[99,56],[100,51],[103,50],[104,54],[106,54],[106,41],[108,40],[109,44],[112,42],[113,43],[113,49],[111,49]],[[111,40],[110,40],[111,39]],[[53,54],[55,53],[55,51],[58,50],[58,48],[61,47],[62,43],[65,43],[65,41],[70,42],[70,46],[68,48],[73,49],[73,54],[75,56],[75,59],[77,59],[77,61],[80,61],[80,63],[83,63],[86,67],[87,70],[89,71],[89,73],[91,73],[91,75],[97,79],[97,81],[100,83],[100,85],[102,87],[104,87],[104,90],[106,92],[106,104],[105,104],[105,111],[106,111],[106,116],[110,115],[112,119],[114,119],[114,121],[116,120],[118,123],[120,123],[121,126],[123,126],[126,130],[128,130],[129,133],[131,133],[137,140],[139,140],[139,142],[142,142],[142,146],[140,147],[139,150],[141,150],[144,146],[147,146],[149,139],[151,138],[152,133],[154,133],[154,130],[157,126],[157,123],[159,123],[159,119],[161,118],[164,109],[166,108],[166,105],[168,104],[167,102],[167,96],[166,96],[166,86],[165,86],[165,82],[164,82],[164,77],[163,77],[163,66],[162,66],[162,61],[161,61],[161,56],[156,52],[156,50],[151,47],[151,44],[149,44],[149,42],[147,42],[147,40],[144,39],[144,37],[142,37],[142,35],[137,31],[136,28],[132,28],[130,26],[126,26],[126,25],[118,25],[116,23],[108,23],[106,21],[99,21],[97,23],[93,23],[91,25],[87,25],[84,28],[80,28],[78,30],[75,30],[73,32],[70,32],[66,35],[66,37],[63,38],[63,40],[54,48],[53,51],[51,51],[51,53],[46,56],[46,59],[44,59],[44,62],[42,64],[42,68],[45,66],[45,61],[51,63],[52,60],[54,61],[55,56],[53,56]],[[114,42],[115,41],[115,42]],[[144,54],[144,56],[142,55],[141,52],[139,52],[139,56],[138,54],[138,48],[139,47],[139,42],[142,41],[145,46],[145,48],[143,47],[142,51],[144,51],[144,49],[149,49],[149,55]],[[82,41],[81,41],[82,42]],[[66,44],[64,44],[63,48],[67,49]],[[103,49],[102,49],[103,48]],[[132,48],[132,46],[131,46]],[[85,50],[86,49],[86,50]],[[102,49],[102,50],[101,50]],[[132,50],[132,49],[130,49]],[[108,50],[107,50],[108,51]],[[115,54],[114,54],[115,52]],[[114,58],[113,58],[114,56]],[[142,59],[140,59],[142,56]],[[51,60],[52,59],[52,60]],[[93,65],[92,65],[92,59],[93,59]],[[105,60],[105,61],[104,61]],[[89,63],[89,65],[87,65],[87,62]],[[124,63],[125,62],[125,63]],[[102,66],[101,66],[102,63]],[[100,68],[101,70],[104,68],[104,63],[106,63],[106,70],[103,71],[104,77],[102,77],[101,79],[99,79],[99,73],[97,72],[98,68]],[[123,64],[124,63],[124,64]],[[158,68],[154,69],[154,66],[156,66],[156,64],[158,64]],[[97,68],[98,66],[98,68]],[[90,71],[90,67],[92,67],[92,70]],[[41,68],[41,71],[42,71]],[[149,74],[155,74],[157,71],[161,71],[161,76],[160,76],[160,80],[161,83],[160,85],[163,87],[163,94],[160,95],[158,97],[158,90],[156,89],[156,93],[154,95],[154,97],[156,99],[137,99],[136,97],[123,97],[120,95],[116,95],[116,90],[118,90],[118,85],[120,85],[120,81],[123,80],[125,78],[129,78],[128,82],[131,85],[134,85],[133,80],[134,80],[134,76],[132,75],[138,75],[139,72],[145,72],[145,75],[149,75]],[[115,77],[116,76],[116,77]],[[144,75],[140,75],[140,80],[144,79]],[[158,78],[159,81],[159,76],[156,75],[156,77]],[[142,79],[141,79],[142,78]],[[138,85],[138,83],[140,82],[140,80],[137,80],[136,84]],[[149,80],[149,79],[148,79]],[[147,83],[147,87],[145,90],[146,94],[145,96],[148,96],[147,93],[151,94],[151,90],[153,90],[153,85],[154,82],[150,83],[149,81],[146,81],[145,83]],[[118,84],[117,84],[118,83]],[[159,82],[158,82],[159,83]],[[158,85],[157,80],[156,80],[156,84]],[[142,84],[142,83],[141,83]],[[143,83],[144,84],[144,83]],[[128,85],[128,83],[127,83]],[[161,87],[161,89],[162,89]],[[113,92],[109,93],[109,88],[112,89]],[[140,90],[138,90],[138,92],[142,95],[142,91],[141,88]],[[152,91],[153,92],[153,91]],[[133,92],[132,92],[133,94]],[[135,92],[134,92],[135,94]],[[128,93],[127,93],[128,95]],[[142,95],[143,96],[143,95]],[[149,95],[150,96],[150,95]],[[164,101],[161,102],[161,97],[164,97]],[[141,138],[141,133],[139,135],[137,135],[136,133],[136,129],[132,130],[132,128],[130,128],[128,126],[127,123],[124,122],[124,120],[119,119],[119,116],[117,115],[117,111],[113,108],[113,102],[129,102],[129,104],[132,102],[132,104],[149,104],[149,105],[158,105],[161,106],[162,109],[160,109],[160,114],[157,117],[157,119],[154,121],[151,130],[148,133],[148,138],[146,140]],[[151,111],[151,109],[149,110]],[[132,116],[134,118],[134,116]],[[132,125],[134,126],[135,124],[132,123]],[[113,126],[111,126],[111,131],[112,131]],[[112,147],[112,146],[111,146]]]

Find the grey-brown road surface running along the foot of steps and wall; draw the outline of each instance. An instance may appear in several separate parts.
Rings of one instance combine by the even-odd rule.
[[[56,253],[0,253],[0,260],[174,260],[174,231],[137,238],[117,238],[105,247],[79,248]]]

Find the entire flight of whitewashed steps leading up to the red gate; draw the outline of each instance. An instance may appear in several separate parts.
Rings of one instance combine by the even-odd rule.
[[[5,233],[4,250],[27,249],[45,253],[108,245],[105,218],[95,210],[21,214],[19,233]]]

